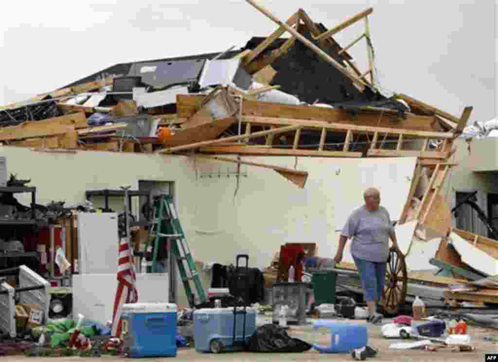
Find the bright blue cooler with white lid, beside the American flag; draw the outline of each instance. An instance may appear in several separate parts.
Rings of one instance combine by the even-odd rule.
[[[175,357],[176,315],[175,304],[124,304],[121,338],[127,357]]]

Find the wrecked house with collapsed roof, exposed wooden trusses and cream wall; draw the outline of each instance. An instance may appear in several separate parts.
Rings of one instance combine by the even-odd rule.
[[[430,100],[384,91],[368,26],[372,8],[331,29],[303,9],[285,22],[259,10],[277,29],[240,49],[117,64],[1,108],[5,175],[36,188],[36,199],[16,194],[17,200],[29,210],[62,201],[65,211],[88,200],[103,214],[123,213],[120,188],[131,186],[134,247],[143,255],[153,196],[170,195],[196,261],[229,265],[236,254],[248,254],[271,281],[277,271],[267,267],[286,243],[314,243],[316,255],[333,258],[346,216],[363,203],[367,187],[376,187],[402,251],[396,255],[402,266],[388,268],[387,311],[415,295],[437,302],[495,300],[494,282],[473,282],[496,275],[496,241],[455,228],[441,193],[458,168],[452,156],[472,107],[462,105],[454,116]],[[365,32],[352,43],[334,40],[359,21]],[[367,45],[367,70],[348,53],[361,44]],[[106,274],[109,282],[95,284],[93,295],[114,297],[118,265],[109,260],[116,259],[117,237],[82,233],[80,216],[50,218],[50,210],[15,213],[3,222],[60,225],[69,273],[79,273],[79,281],[68,282],[73,293],[76,284],[84,289],[85,278]],[[24,251],[39,252],[33,234],[21,234]],[[139,266],[140,257],[134,262]],[[355,268],[348,249],[337,267]],[[441,273],[425,271],[434,267]],[[142,282],[149,289],[164,284]],[[423,294],[420,285],[427,283],[440,289]],[[187,305],[183,291],[172,291],[177,284],[168,287],[166,299],[173,295]],[[88,300],[80,297],[75,308]]]

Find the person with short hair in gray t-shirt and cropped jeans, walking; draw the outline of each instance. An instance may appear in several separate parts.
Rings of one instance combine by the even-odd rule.
[[[334,261],[341,262],[346,241],[352,239],[351,255],[365,291],[370,315],[368,321],[377,323],[382,320],[382,316],[376,313],[376,303],[380,301],[384,289],[389,238],[396,249],[398,243],[389,213],[380,206],[379,191],[367,189],[364,199],[365,205],[353,211],[344,225]]]

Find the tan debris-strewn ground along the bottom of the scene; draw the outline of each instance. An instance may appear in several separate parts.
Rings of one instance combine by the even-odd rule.
[[[365,321],[349,321],[350,323],[366,323]],[[258,323],[259,324],[259,323]],[[387,340],[382,338],[380,333],[380,326],[369,326],[369,346],[378,349],[380,352],[373,359],[373,361],[399,361],[399,362],[414,362],[414,361],[485,361],[485,354],[498,353],[498,345],[486,342],[483,340],[485,335],[492,335],[498,337],[498,331],[491,329],[484,329],[469,326],[468,333],[473,338],[473,345],[475,351],[473,352],[452,352],[451,348],[443,348],[437,352],[429,352],[422,350],[410,351],[396,351],[389,350],[388,347],[392,343],[401,342],[401,340]],[[291,326],[288,330],[290,336],[299,338],[311,344],[330,345],[330,337],[324,330],[315,330],[311,324],[303,326]],[[407,342],[406,340],[402,342]],[[23,356],[11,356],[0,358],[0,362],[53,362],[57,361],[95,361],[96,359],[88,358],[83,359],[80,357],[69,358],[26,358]],[[123,362],[123,361],[137,361],[137,359],[124,359],[119,357],[104,356],[102,360],[108,362]],[[168,361],[170,358],[152,358],[152,359],[139,359],[138,361]],[[256,353],[224,353],[220,355],[202,354],[196,352],[193,348],[182,348],[178,350],[175,361],[244,361],[244,362],[266,362],[266,361],[314,361],[314,360],[328,360],[328,361],[352,361],[349,354],[320,354],[314,350],[306,353],[298,354],[256,354]]]

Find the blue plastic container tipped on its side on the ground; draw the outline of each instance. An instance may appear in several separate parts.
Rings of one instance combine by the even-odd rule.
[[[330,346],[313,345],[320,353],[350,353],[351,350],[367,346],[369,341],[367,326],[362,324],[332,322],[320,319],[315,328],[330,328]]]

